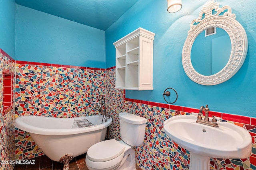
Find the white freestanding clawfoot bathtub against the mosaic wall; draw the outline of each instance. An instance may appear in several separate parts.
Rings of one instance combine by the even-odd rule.
[[[112,123],[112,118],[103,115],[92,115],[75,118],[55,118],[46,116],[20,116],[15,119],[14,126],[29,132],[38,147],[54,161],[66,154],[72,157],[84,154],[87,150],[106,137],[107,127]],[[93,125],[78,127],[75,121],[87,119]],[[69,162],[69,161],[68,161]]]

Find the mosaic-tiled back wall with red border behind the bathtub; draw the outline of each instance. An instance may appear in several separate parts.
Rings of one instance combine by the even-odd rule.
[[[15,117],[76,117],[96,113],[105,94],[105,69],[16,62]],[[16,159],[43,154],[27,132],[16,128]]]

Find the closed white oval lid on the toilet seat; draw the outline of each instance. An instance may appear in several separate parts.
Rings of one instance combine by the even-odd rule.
[[[124,146],[115,139],[102,141],[92,145],[86,156],[94,162],[112,160],[124,152]]]

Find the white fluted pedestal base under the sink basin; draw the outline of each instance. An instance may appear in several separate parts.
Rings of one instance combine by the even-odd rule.
[[[210,157],[190,152],[189,170],[210,170]]]

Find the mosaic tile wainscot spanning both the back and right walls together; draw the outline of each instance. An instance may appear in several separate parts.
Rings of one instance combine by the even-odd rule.
[[[197,109],[125,98],[125,91],[114,88],[115,70],[68,67],[56,64],[16,64],[16,117],[43,115],[74,117],[90,115],[98,94],[106,94],[107,113],[113,123],[110,135],[120,140],[118,113],[128,111],[148,119],[144,144],[135,147],[136,163],[146,170],[188,170],[189,152],[166,137],[163,122],[175,115]],[[99,92],[100,91],[100,92]],[[82,97],[78,97],[78,96]],[[60,111],[61,110],[61,111]],[[248,159],[215,159],[220,170],[256,169],[256,119],[211,112],[242,126],[252,135],[253,150]],[[29,134],[16,129],[16,159],[39,156],[42,151]],[[217,167],[211,161],[211,170]]]

